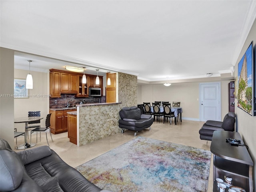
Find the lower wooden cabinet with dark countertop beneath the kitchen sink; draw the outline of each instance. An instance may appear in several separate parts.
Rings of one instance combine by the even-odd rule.
[[[50,128],[53,134],[63,133],[68,131],[68,111],[76,111],[72,110],[50,110],[52,113],[50,119]]]

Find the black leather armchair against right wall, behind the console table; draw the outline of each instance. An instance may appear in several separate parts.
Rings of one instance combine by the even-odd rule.
[[[202,128],[199,130],[200,139],[202,140],[212,140],[213,132],[216,130],[222,131],[234,131],[234,126],[236,122],[236,114],[234,112],[229,112],[225,115],[222,121],[212,121],[208,120],[203,124]]]

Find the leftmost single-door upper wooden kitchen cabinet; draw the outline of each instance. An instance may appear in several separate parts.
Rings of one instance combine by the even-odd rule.
[[[60,72],[50,71],[50,96],[60,97]]]

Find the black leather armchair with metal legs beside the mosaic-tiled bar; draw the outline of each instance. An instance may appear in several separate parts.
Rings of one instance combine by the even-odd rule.
[[[150,128],[153,124],[154,118],[151,115],[141,114],[140,108],[133,107],[124,107],[120,110],[119,115],[121,119],[119,120],[119,127],[128,130],[136,131],[134,136],[137,135],[138,131]]]

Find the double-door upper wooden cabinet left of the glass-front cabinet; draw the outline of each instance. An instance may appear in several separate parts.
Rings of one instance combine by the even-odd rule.
[[[78,74],[60,73],[60,92],[78,93]]]

